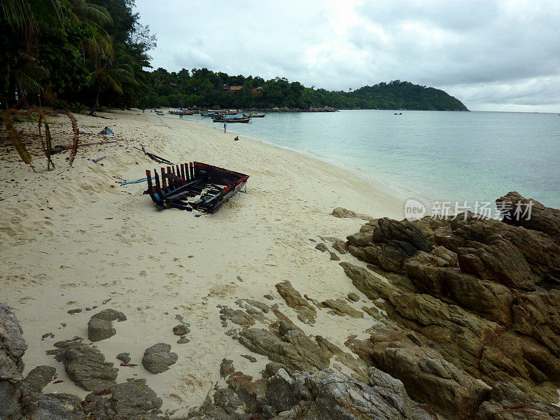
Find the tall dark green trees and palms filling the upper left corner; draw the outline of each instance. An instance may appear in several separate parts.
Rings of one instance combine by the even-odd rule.
[[[137,104],[148,92],[143,68],[155,37],[134,1],[0,0],[0,8],[0,97],[97,108]]]

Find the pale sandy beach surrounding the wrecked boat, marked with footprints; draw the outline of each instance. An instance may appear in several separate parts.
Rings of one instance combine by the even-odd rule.
[[[349,330],[372,325],[371,318],[339,318],[326,311],[313,327],[303,325],[274,284],[290,280],[302,294],[318,300],[356,291],[337,262],[314,249],[316,243],[309,239],[344,239],[358,231],[363,221],[330,216],[335,207],[402,218],[400,200],[350,172],[258,141],[233,141],[234,134],[200,123],[134,111],[103,115],[111,120],[80,116],[80,130],[97,133],[109,125],[120,140],[80,148],[68,171],[67,153],[55,157],[57,167],[51,172],[37,160],[41,172],[33,174],[15,161],[13,152],[6,152],[10,148],[1,149],[0,300],[15,308],[22,324],[29,344],[26,372],[48,364],[64,380],[45,392],[86,394],[45,351],[58,340],[87,337],[90,316],[106,307],[123,311],[128,321],[116,323],[117,335],[97,346],[110,362],[117,361],[117,353],[130,351],[132,363],[139,366],[120,367],[118,381],[146,377],[164,398],[164,409],[202,402],[218,381],[224,357],[245,372],[264,367],[262,356],[255,355],[254,364],[239,357],[248,351],[224,334],[217,304],[236,307],[240,297],[271,303],[262,297],[270,293],[306,332],[336,344],[344,342]],[[55,144],[67,144],[69,126],[62,118],[58,122],[52,127]],[[102,139],[83,136],[83,141]],[[158,167],[132,148],[139,144],[174,162],[199,160],[249,174],[247,194],[238,194],[212,216],[158,211],[141,194],[145,183],[118,184]],[[98,163],[90,161],[104,155]],[[67,314],[94,305],[99,308]],[[176,315],[190,323],[188,344],[176,344]],[[41,339],[47,332],[55,338]],[[141,367],[144,349],[156,342],[172,344],[179,354],[176,365],[158,375]]]

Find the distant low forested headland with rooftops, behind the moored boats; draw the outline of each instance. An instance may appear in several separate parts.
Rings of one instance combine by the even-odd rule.
[[[286,78],[229,76],[209,69],[169,73],[160,68],[152,71],[149,78],[154,90],[148,102],[161,106],[468,111],[461,101],[442,90],[400,80],[344,92],[305,87]]]

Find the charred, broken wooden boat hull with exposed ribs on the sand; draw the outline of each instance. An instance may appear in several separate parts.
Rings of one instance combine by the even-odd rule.
[[[206,163],[181,163],[146,170],[149,194],[158,209],[181,209],[213,214],[245,186],[248,175]]]

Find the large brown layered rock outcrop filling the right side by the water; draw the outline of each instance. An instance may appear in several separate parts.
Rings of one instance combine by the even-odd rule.
[[[514,209],[528,200],[510,193],[497,202]],[[341,265],[388,320],[347,344],[449,419],[497,419],[512,404],[516,416],[500,419],[550,415],[560,387],[560,211],[532,209],[519,220],[366,223],[347,238],[349,252],[374,267]],[[526,399],[515,402],[515,389]]]

